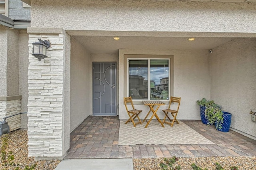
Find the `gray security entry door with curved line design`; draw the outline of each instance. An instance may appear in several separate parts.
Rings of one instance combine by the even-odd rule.
[[[93,63],[93,115],[116,115],[116,63]]]

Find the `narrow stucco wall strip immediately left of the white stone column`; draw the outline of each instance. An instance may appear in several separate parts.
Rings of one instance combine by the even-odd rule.
[[[21,112],[28,111],[28,33],[26,30],[19,31],[19,94],[21,99]],[[28,117],[21,115],[21,128],[28,128]]]

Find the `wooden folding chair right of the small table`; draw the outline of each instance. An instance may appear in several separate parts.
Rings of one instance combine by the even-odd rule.
[[[178,103],[178,107],[176,110],[170,109],[172,102]],[[176,116],[178,115],[179,107],[180,107],[180,97],[171,97],[168,109],[162,110],[165,114],[163,123],[167,123],[167,124],[171,125],[171,127],[173,126],[174,122],[179,124],[178,120],[176,119]],[[171,113],[173,119],[170,119],[170,117],[168,117],[168,113]],[[170,122],[166,122],[166,120],[165,120],[166,117],[169,119]]]

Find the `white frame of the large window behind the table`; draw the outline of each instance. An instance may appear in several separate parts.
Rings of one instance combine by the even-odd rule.
[[[171,85],[171,81],[170,79],[172,78],[172,75],[171,75],[171,58],[141,58],[141,57],[127,57],[127,60],[126,60],[126,71],[127,71],[127,75],[126,75],[126,78],[127,78],[127,85],[126,85],[126,88],[127,88],[127,95],[129,95],[129,92],[130,92],[130,88],[129,88],[129,85],[130,85],[130,82],[129,82],[129,79],[130,79],[130,75],[129,75],[129,60],[145,60],[145,61],[148,61],[148,99],[133,99],[135,101],[143,101],[143,100],[151,100],[151,101],[156,101],[156,100],[160,100],[160,101],[170,101],[169,99],[150,99],[150,60],[168,60],[168,98],[170,98],[171,96],[171,90],[170,90],[170,85]]]

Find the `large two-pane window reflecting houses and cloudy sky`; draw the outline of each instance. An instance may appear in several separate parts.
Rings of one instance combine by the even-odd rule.
[[[169,59],[128,58],[129,96],[133,99],[168,100],[169,63]]]

